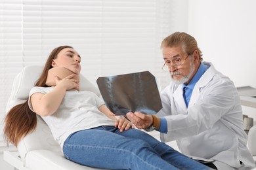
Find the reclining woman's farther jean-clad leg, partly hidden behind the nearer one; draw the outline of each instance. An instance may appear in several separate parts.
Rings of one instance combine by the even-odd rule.
[[[146,141],[148,144],[150,144],[150,146],[152,146],[154,150],[156,150],[158,155],[161,156],[163,160],[168,161],[178,169],[209,169],[209,167],[206,167],[202,163],[192,160],[191,158],[184,156],[177,150],[174,150],[173,148],[171,148],[171,146],[168,146],[165,143],[161,143],[144,131],[138,129],[129,129],[123,132],[116,130],[115,133],[123,135],[125,137],[142,139],[143,141]]]

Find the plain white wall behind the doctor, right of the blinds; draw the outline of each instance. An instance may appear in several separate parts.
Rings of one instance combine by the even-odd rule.
[[[256,1],[189,1],[188,33],[198,40],[205,61],[236,86],[256,88]]]

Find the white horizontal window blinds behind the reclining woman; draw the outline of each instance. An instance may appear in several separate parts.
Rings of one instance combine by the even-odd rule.
[[[166,85],[160,42],[169,32],[168,0],[0,0],[0,121],[14,76],[43,65],[56,46],[81,56],[81,73],[98,76],[150,71]],[[5,145],[0,138],[0,146]]]

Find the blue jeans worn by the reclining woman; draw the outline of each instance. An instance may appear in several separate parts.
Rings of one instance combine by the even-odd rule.
[[[65,158],[106,169],[209,169],[138,129],[100,126],[77,131],[64,142]]]

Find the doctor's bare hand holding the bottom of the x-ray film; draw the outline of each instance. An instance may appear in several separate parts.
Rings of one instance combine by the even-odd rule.
[[[151,114],[128,112],[126,116],[138,129],[146,129],[153,124],[153,117]]]

